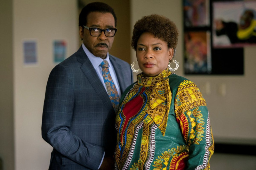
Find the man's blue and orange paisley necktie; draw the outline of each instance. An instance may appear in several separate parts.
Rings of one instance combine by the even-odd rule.
[[[117,113],[119,105],[119,96],[117,88],[115,87],[115,84],[109,72],[109,63],[106,60],[104,60],[99,66],[102,67],[102,75],[107,89],[107,94],[109,95],[109,98],[112,102],[115,113]]]

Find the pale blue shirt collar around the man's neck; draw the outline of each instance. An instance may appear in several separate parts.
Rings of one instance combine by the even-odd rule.
[[[84,44],[82,44],[82,48],[83,48],[83,51],[85,51],[87,57],[89,58],[89,60],[91,61],[94,69],[96,69],[100,64],[101,62],[103,61],[102,58],[100,57],[96,57],[94,56],[87,48]],[[110,62],[110,59],[109,59],[109,52],[107,52],[107,57],[104,59],[104,60],[107,60],[107,62],[109,63],[109,67],[112,68],[112,64]]]

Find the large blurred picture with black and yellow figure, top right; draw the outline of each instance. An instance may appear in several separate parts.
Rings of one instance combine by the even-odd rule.
[[[213,48],[256,45],[256,1],[213,2]]]

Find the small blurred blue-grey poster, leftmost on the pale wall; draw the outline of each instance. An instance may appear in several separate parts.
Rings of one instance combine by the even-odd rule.
[[[35,41],[23,42],[24,64],[36,64],[37,59],[37,43]]]

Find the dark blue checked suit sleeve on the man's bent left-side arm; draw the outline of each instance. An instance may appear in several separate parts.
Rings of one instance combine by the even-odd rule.
[[[74,101],[72,74],[65,67],[57,65],[47,82],[42,137],[67,158],[90,169],[98,169],[104,148],[83,141],[70,130]]]

